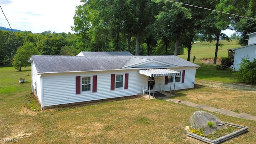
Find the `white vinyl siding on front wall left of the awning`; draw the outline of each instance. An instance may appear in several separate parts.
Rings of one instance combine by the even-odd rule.
[[[123,75],[125,73],[129,73],[128,89],[117,88],[114,91],[110,91],[111,74]],[[77,95],[76,76],[88,77],[92,75],[97,75],[97,92],[82,92]],[[137,95],[141,93],[141,86],[147,83],[146,80],[147,76],[139,74],[138,70],[45,74],[43,92],[44,106]]]

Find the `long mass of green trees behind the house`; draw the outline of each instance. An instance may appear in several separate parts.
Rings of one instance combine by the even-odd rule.
[[[222,30],[236,31],[241,45],[256,32],[256,1],[238,0],[81,0],[76,7],[75,34],[0,30],[1,66],[17,66],[18,49],[32,46],[39,55],[76,55],[81,51],[129,51],[134,55],[178,55],[190,52],[194,41],[216,41]],[[190,4],[184,5],[184,4]],[[197,7],[194,7],[197,6]],[[212,12],[211,10],[222,11]],[[232,13],[240,16],[234,16]],[[233,36],[234,37],[234,36]],[[16,56],[16,57],[15,57]],[[26,64],[25,64],[26,65]],[[22,66],[25,66],[24,64]]]

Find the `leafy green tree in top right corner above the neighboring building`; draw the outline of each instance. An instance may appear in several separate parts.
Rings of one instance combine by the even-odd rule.
[[[216,10],[236,14],[239,16],[218,13],[216,26],[218,28],[230,28],[240,34],[239,44],[248,44],[248,36],[256,32],[256,1],[255,0],[220,0]],[[250,19],[252,18],[252,19]]]

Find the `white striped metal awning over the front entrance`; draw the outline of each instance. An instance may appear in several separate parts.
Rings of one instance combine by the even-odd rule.
[[[150,77],[158,77],[158,76],[175,76],[178,75],[180,72],[170,69],[147,69],[147,70],[139,70],[140,74],[150,76]]]

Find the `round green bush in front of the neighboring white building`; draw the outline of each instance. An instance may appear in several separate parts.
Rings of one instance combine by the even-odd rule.
[[[250,61],[249,56],[241,59],[240,68],[235,73],[238,80],[247,84],[256,84],[256,59]]]

